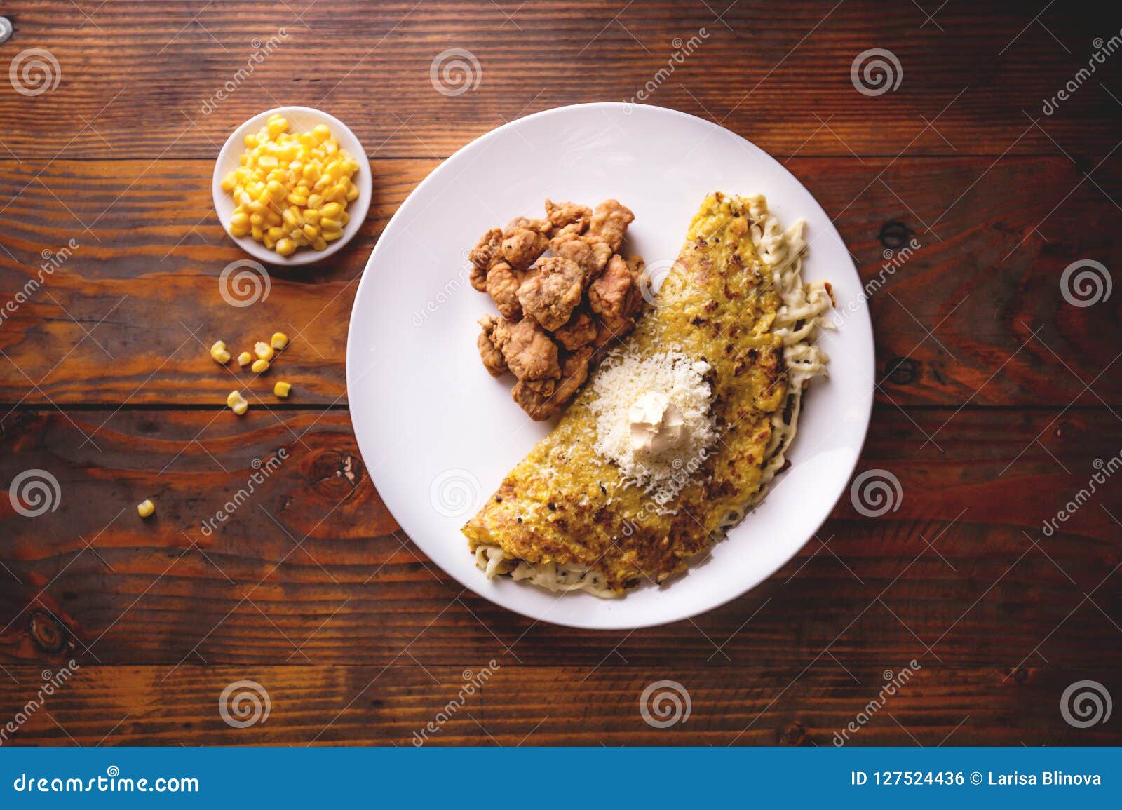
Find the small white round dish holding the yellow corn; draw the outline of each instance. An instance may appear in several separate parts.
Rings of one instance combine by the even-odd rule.
[[[325,123],[331,128],[331,135],[339,141],[339,148],[346,149],[358,163],[358,172],[351,177],[351,182],[358,186],[358,197],[347,204],[347,213],[350,221],[343,225],[343,234],[332,242],[328,242],[324,250],[313,250],[312,248],[297,248],[296,252],[289,256],[282,256],[276,250],[269,250],[260,242],[254,241],[252,237],[236,237],[230,233],[230,214],[233,213],[233,195],[222,191],[222,178],[228,172],[232,172],[240,165],[239,158],[246,149],[246,136],[256,132],[274,113],[280,113],[288,119],[288,130],[292,132],[306,132],[313,127]],[[278,107],[275,110],[259,112],[243,125],[238,127],[233,135],[227,138],[222,145],[222,151],[218,154],[214,162],[214,177],[211,180],[211,193],[214,195],[214,210],[218,219],[226,229],[227,236],[241,246],[241,249],[259,261],[267,261],[270,265],[296,266],[310,265],[321,261],[342,248],[351,238],[358,233],[366,219],[366,212],[370,208],[370,163],[366,159],[366,153],[356,135],[346,123],[334,116],[329,116],[320,110],[310,107]]]

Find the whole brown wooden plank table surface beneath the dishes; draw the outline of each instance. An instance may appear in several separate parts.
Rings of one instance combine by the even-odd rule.
[[[854,745],[1122,743],[1122,712],[1088,725],[1061,709],[1078,681],[1122,699],[1116,12],[304,4],[8,12],[0,742],[408,745],[433,721],[433,743],[471,745],[830,745],[850,722]],[[450,48],[478,61],[459,95],[430,79]],[[877,95],[850,73],[871,48],[899,65]],[[22,73],[35,61],[45,84]],[[876,517],[843,497],[790,563],[717,610],[589,633],[495,607],[403,535],[368,475],[384,460],[355,443],[346,334],[378,234],[443,158],[521,116],[641,90],[782,160],[877,279],[857,470],[901,494]],[[212,210],[213,162],[233,128],[283,104],[356,131],[374,201],[335,257],[273,273],[267,300],[237,309],[219,295],[243,254]],[[294,396],[275,403],[263,383],[234,418],[230,371],[206,349],[275,328],[293,337]],[[280,450],[248,507],[204,536],[201,519]],[[148,497],[156,516],[140,521]],[[459,706],[462,673],[481,668]],[[238,681],[267,692],[267,720],[224,721]],[[688,693],[688,719],[644,720],[656,681]]]

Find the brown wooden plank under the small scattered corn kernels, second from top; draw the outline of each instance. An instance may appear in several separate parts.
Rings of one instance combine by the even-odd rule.
[[[787,164],[858,263],[881,402],[1122,403],[1122,375],[1111,370],[1122,296],[1073,306],[1059,282],[1076,259],[1122,264],[1112,239],[1122,213],[1067,158]],[[292,402],[344,402],[357,278],[389,217],[436,162],[373,166],[376,196],[355,241],[323,267],[273,271],[266,300],[234,307],[218,278],[245,255],[214,219],[209,162],[0,165],[0,196],[17,197],[0,233],[0,297],[18,303],[43,276],[25,303],[2,311],[0,401],[221,403],[240,377],[211,361],[210,344],[243,346],[283,328],[294,338],[283,361],[296,386]],[[42,252],[58,256],[70,239],[73,255],[42,271],[52,267]],[[919,247],[901,250],[910,239]],[[850,303],[838,302],[840,315]]]

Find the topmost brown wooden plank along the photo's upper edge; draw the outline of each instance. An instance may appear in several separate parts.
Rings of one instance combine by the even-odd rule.
[[[651,86],[650,103],[721,120],[779,155],[1055,155],[1022,111],[1043,117],[1045,100],[1087,65],[1093,39],[1116,33],[1093,16],[1018,3],[951,3],[934,17],[911,6],[884,13],[872,0],[745,0],[719,18],[712,9],[673,0],[623,10],[608,0],[339,0],[301,12],[250,0],[202,9],[132,0],[84,11],[63,0],[27,2],[7,48],[47,48],[62,77],[38,96],[0,95],[3,140],[21,160],[212,157],[256,112],[303,104],[348,122],[371,154],[444,157],[513,118],[635,100]],[[279,45],[254,61],[256,44],[282,28]],[[691,37],[699,45],[675,50]],[[453,47],[476,56],[480,81],[448,96],[430,67]],[[892,50],[902,74],[879,98],[850,81],[855,57],[870,47]],[[1093,160],[1115,145],[1118,110],[1102,85],[1116,85],[1122,70],[1109,58],[1096,67],[1046,119],[1051,138]]]

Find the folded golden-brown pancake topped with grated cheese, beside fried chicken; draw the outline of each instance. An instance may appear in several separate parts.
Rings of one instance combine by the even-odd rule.
[[[812,340],[831,301],[802,284],[804,247],[764,197],[706,197],[656,306],[463,527],[489,577],[616,596],[758,503],[825,374]]]

